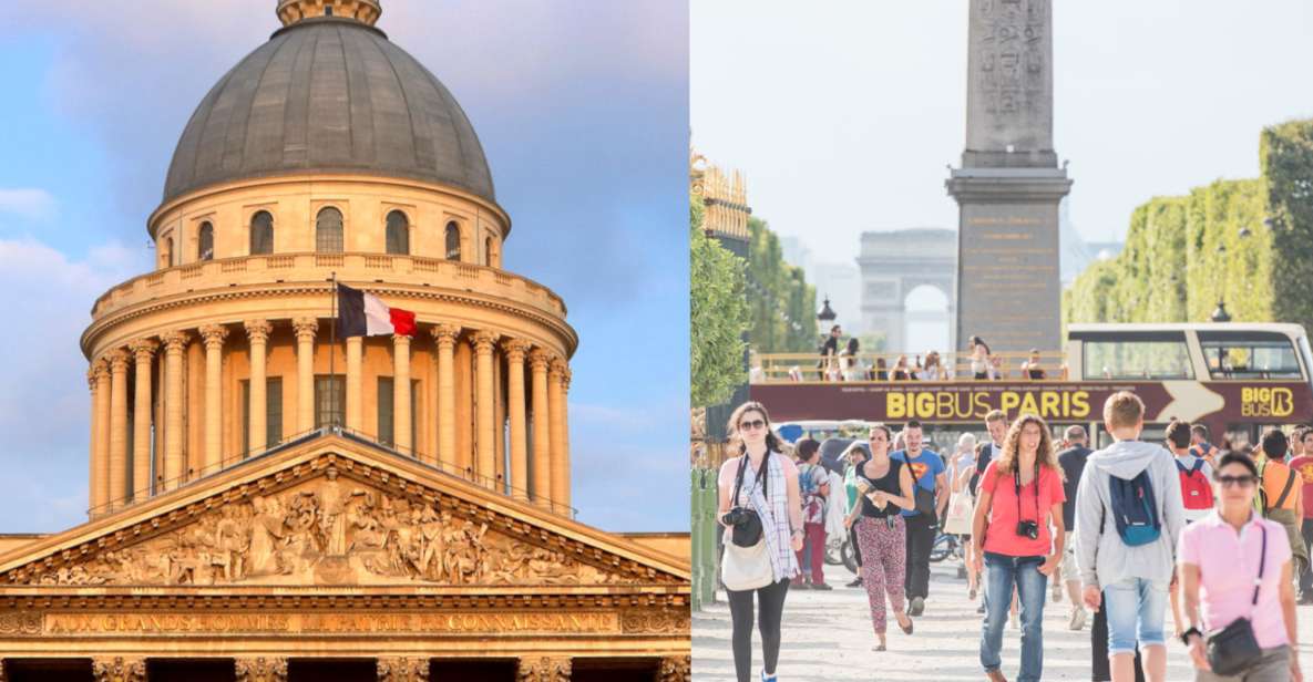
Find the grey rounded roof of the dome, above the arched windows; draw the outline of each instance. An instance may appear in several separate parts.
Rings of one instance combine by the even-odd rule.
[[[164,201],[305,172],[412,178],[496,198],[452,93],[382,31],[348,18],[284,28],[223,76],[183,131]]]

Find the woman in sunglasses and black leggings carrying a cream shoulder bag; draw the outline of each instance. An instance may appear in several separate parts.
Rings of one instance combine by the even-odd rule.
[[[725,514],[733,506],[750,508],[762,519],[767,555],[775,581],[756,590],[726,590],[730,602],[733,628],[734,670],[738,682],[752,679],[752,595],[756,594],[762,615],[758,628],[762,633],[762,682],[776,682],[780,660],[780,620],[784,616],[784,597],[789,581],[798,574],[796,552],[802,550],[802,498],[798,488],[798,470],[781,454],[783,443],[771,430],[771,417],[760,403],[743,403],[730,414],[729,451],[738,452],[721,466],[720,512],[717,518],[726,526],[725,543],[729,544],[730,527]],[[742,470],[743,476],[739,476]],[[735,489],[738,485],[738,489]]]

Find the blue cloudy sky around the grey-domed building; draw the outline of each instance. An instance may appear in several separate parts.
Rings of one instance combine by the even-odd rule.
[[[0,24],[0,532],[85,518],[91,303],[150,268],[146,218],[206,90],[273,3],[11,0]],[[579,331],[574,504],[608,530],[688,527],[688,4],[385,0],[483,143],[506,268]]]

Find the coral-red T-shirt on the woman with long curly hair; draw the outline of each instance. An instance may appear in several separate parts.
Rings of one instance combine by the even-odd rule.
[[[994,494],[990,502],[989,526],[985,527],[985,551],[1007,556],[1048,556],[1053,552],[1053,535],[1049,532],[1049,517],[1053,505],[1066,501],[1062,492],[1062,475],[1057,470],[1040,467],[1040,477],[1022,487],[1022,515],[1016,515],[1016,479],[1011,473],[998,471],[998,460],[990,462],[981,475],[979,491]],[[1035,496],[1040,497],[1039,517],[1035,514]],[[1040,525],[1040,536],[1029,539],[1016,534],[1019,519],[1035,521]],[[1060,514],[1057,523],[1062,522]]]

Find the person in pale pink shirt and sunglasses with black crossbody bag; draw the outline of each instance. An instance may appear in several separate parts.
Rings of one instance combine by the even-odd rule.
[[[1180,602],[1190,628],[1182,641],[1190,648],[1197,682],[1276,682],[1304,679],[1295,618],[1291,543],[1285,529],[1254,513],[1258,467],[1238,452],[1222,456],[1213,470],[1221,504],[1186,526],[1176,550]],[[1260,577],[1260,580],[1259,580]],[[1263,656],[1241,675],[1212,672],[1203,631],[1221,630],[1247,618]]]

